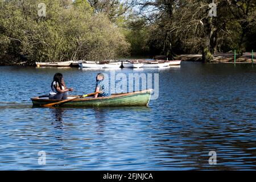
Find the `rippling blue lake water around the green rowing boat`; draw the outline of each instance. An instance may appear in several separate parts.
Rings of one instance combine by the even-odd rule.
[[[148,107],[32,107],[56,72],[73,94],[92,93],[96,74],[110,73],[0,67],[0,170],[256,169],[255,65],[117,69],[159,73],[159,98]]]

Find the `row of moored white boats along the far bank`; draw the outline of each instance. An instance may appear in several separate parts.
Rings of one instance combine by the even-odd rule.
[[[80,67],[80,68],[163,68],[180,65],[181,60],[125,60],[96,63],[94,61],[65,61],[58,63],[36,63],[37,67]]]

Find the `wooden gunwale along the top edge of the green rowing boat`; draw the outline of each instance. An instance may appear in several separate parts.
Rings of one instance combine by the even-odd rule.
[[[123,97],[123,96],[132,96],[132,95],[136,95],[136,94],[143,94],[143,93],[148,93],[151,95],[153,89],[147,89],[147,90],[141,90],[141,91],[136,91],[136,92],[129,92],[129,93],[117,93],[114,94],[112,96],[109,97],[97,97],[97,98],[76,98],[73,101],[94,101],[94,100],[104,100],[104,99],[109,99],[109,98],[118,98],[118,97]],[[69,96],[69,97],[76,97],[76,96]],[[39,98],[39,96],[37,97],[32,97],[31,98],[32,101],[40,101],[40,102],[57,102],[57,101],[63,101],[63,100],[53,100],[53,99],[42,99]],[[148,100],[149,102],[149,100]]]

